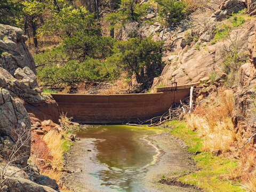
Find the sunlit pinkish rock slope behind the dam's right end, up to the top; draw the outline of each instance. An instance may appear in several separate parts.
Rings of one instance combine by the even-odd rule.
[[[242,27],[233,27],[229,33],[229,37],[225,37],[218,41],[215,40],[215,34],[222,33],[225,30],[226,19],[228,15],[246,9],[247,14],[253,14],[255,10],[254,1],[247,0],[223,1],[219,6],[219,10],[212,13],[210,17],[204,20],[198,19],[191,23],[189,29],[178,29],[174,33],[166,29],[164,39],[166,44],[174,45],[167,50],[165,55],[166,66],[161,76],[154,79],[152,88],[158,85],[170,86],[174,82],[178,85],[195,83],[199,79],[208,76],[212,72],[220,71],[220,64],[223,62],[223,51],[225,46],[230,46],[231,40],[236,39],[237,46],[241,49],[240,53],[248,52],[248,42],[250,41],[256,20],[251,18],[245,20]],[[254,9],[253,9],[254,7]],[[193,20],[193,17],[191,18]],[[199,24],[198,24],[199,23]],[[161,31],[161,27],[159,27]],[[163,29],[161,31],[163,33]],[[161,34],[160,34],[161,36]],[[157,38],[154,35],[154,38]],[[169,39],[172,39],[171,41]],[[174,78],[175,76],[175,78]]]

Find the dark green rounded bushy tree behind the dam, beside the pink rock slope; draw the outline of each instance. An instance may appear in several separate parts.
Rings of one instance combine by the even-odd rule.
[[[154,42],[151,37],[145,39],[130,38],[128,41],[118,41],[114,45],[115,58],[129,75],[135,73],[137,82],[150,84],[158,76],[155,68],[162,67],[162,54],[159,53],[161,42]]]

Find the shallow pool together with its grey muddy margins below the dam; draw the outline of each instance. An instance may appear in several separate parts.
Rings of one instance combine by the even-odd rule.
[[[184,152],[166,131],[125,125],[75,132],[67,183],[75,191],[187,191],[159,184],[163,174],[186,169]],[[82,171],[81,171],[82,170]]]

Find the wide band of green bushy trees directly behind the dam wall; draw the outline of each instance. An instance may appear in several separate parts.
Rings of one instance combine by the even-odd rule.
[[[75,46],[79,43],[81,46],[84,45],[79,49],[73,47],[73,52],[81,55],[80,58],[74,59],[74,55],[67,54],[66,46],[37,55],[35,61],[39,66],[37,68],[39,82],[60,87],[84,81],[112,81],[125,70],[128,71],[129,77],[135,74],[137,81],[147,88],[153,78],[159,75],[156,68],[163,66],[162,54],[159,53],[161,42],[154,42],[151,37],[142,40],[130,38],[128,41],[115,41],[111,37],[89,36],[88,38],[90,41],[87,37],[83,38],[83,41],[92,42],[89,45],[92,47],[91,50],[87,50],[83,41],[73,42]],[[102,42],[105,42],[105,45]],[[90,55],[93,55],[93,58]]]

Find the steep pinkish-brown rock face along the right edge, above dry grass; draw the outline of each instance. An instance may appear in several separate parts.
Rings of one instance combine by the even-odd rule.
[[[233,110],[232,121],[237,132],[244,138],[250,138],[256,129],[256,33],[249,37],[249,57],[250,62],[245,63],[239,70],[240,86],[235,93],[235,108]],[[256,141],[256,140],[254,140]],[[255,142],[254,142],[255,143]]]

